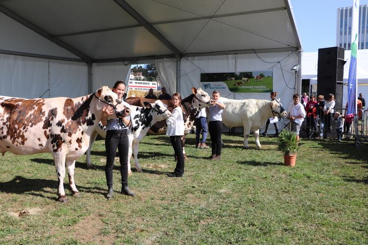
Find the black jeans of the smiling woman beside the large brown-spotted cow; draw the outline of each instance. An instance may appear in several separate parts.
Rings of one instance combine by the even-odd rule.
[[[121,184],[128,185],[128,134],[127,130],[107,130],[105,139],[106,148],[106,182],[107,186],[112,186],[112,170],[116,149],[119,150]]]

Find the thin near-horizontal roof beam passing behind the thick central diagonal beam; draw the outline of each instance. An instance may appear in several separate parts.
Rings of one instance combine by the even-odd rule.
[[[206,19],[210,19],[210,18],[211,19],[216,19],[216,18],[230,17],[230,16],[237,16],[237,15],[266,13],[266,12],[272,12],[272,11],[282,11],[282,10],[285,10],[285,9],[286,9],[286,7],[268,8],[268,9],[260,9],[260,10],[238,12],[238,13],[219,14],[219,15],[214,15],[214,16],[200,16],[200,17],[180,19],[180,20],[158,21],[158,22],[151,22],[151,23],[149,23],[149,25],[155,26],[155,25],[172,24],[172,23],[187,22],[187,21],[206,20]],[[124,29],[136,28],[136,27],[141,27],[141,26],[143,26],[143,25],[142,24],[136,24],[136,25],[130,25],[130,26],[125,26],[125,27],[115,27],[115,28],[106,28],[106,29],[98,29],[98,30],[91,30],[91,31],[71,32],[71,33],[55,35],[55,37],[83,35],[83,34],[90,34],[90,33],[103,32],[103,31],[124,30]]]

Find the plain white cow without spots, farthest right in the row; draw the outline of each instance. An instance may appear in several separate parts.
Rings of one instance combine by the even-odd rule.
[[[265,99],[228,99],[221,97],[226,108],[222,113],[222,122],[228,127],[244,127],[244,147],[248,148],[250,130],[254,132],[256,145],[261,148],[259,141],[260,128],[270,117],[285,117],[286,111],[277,100]]]

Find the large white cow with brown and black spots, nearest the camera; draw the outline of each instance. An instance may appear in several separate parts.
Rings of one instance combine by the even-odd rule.
[[[63,185],[66,166],[72,195],[80,196],[74,183],[75,160],[88,149],[106,104],[115,108],[116,117],[130,114],[129,105],[107,86],[78,98],[0,96],[0,153],[52,153],[59,181],[58,201],[67,201]]]

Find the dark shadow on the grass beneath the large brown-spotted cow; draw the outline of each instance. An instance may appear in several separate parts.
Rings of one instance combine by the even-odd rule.
[[[56,176],[55,176],[55,179],[56,179]],[[54,180],[27,179],[22,176],[16,176],[11,181],[0,183],[0,192],[15,193],[15,194],[27,193],[29,195],[44,197],[44,198],[48,198],[48,199],[56,201],[57,200],[56,197],[48,197],[48,196],[45,196],[44,194],[45,193],[55,193],[56,194],[58,186],[59,186],[58,181],[54,181]],[[66,185],[64,184],[64,188],[65,187]],[[55,191],[48,191],[48,190],[45,190],[45,188],[53,188],[55,189]],[[98,188],[98,187],[91,188],[91,187],[77,185],[77,188],[79,191],[89,192],[89,193],[104,194],[106,192],[105,189]],[[68,194],[69,193],[67,193],[67,195]]]

